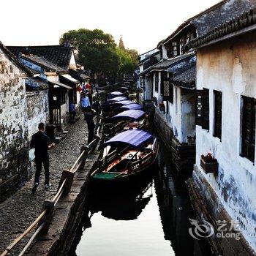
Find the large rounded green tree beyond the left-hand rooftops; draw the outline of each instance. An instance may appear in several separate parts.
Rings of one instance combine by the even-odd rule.
[[[92,74],[112,77],[118,72],[120,58],[116,54],[116,43],[111,34],[100,29],[78,29],[64,33],[59,42],[70,42],[78,50],[78,59]]]

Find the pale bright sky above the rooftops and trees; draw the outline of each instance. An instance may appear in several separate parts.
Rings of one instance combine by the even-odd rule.
[[[4,45],[56,45],[70,29],[102,29],[139,53],[156,48],[181,23],[219,0],[1,1]]]

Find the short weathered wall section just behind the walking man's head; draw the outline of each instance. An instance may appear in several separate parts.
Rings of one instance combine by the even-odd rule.
[[[49,122],[48,90],[26,92],[29,140],[37,132],[38,124]]]

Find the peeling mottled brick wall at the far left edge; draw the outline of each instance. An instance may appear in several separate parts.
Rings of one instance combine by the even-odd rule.
[[[22,74],[0,50],[0,196],[27,176],[28,125]]]

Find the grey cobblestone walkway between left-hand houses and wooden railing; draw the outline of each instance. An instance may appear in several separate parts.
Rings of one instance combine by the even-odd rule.
[[[62,170],[73,165],[80,154],[80,147],[87,143],[87,127],[82,119],[69,125],[67,130],[69,132],[67,138],[61,140],[55,148],[49,151],[50,183],[52,187],[49,190],[44,189],[42,170],[41,181],[34,195],[31,195],[31,187],[34,183],[33,176],[25,186],[0,204],[0,255],[6,246],[34,222],[34,219],[42,211],[44,200],[56,194]],[[18,252],[21,251],[28,240],[29,236],[15,246],[10,255],[18,255]]]

